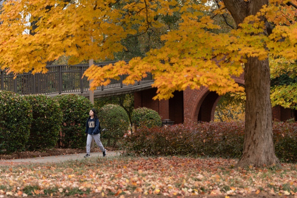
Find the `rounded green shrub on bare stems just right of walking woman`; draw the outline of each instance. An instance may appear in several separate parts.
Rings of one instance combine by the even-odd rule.
[[[126,111],[119,105],[105,105],[99,109],[97,115],[101,124],[102,138],[108,138],[106,146],[110,145],[110,139],[114,139],[113,146],[115,146],[117,140],[127,132],[130,124]]]

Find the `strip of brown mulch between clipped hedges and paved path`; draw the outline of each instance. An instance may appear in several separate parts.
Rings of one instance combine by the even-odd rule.
[[[105,147],[108,151],[117,150],[113,147]],[[101,152],[99,148],[91,149],[91,153]],[[33,157],[46,157],[46,156],[56,156],[56,155],[69,155],[77,153],[86,153],[86,149],[48,149],[45,151],[24,151],[24,152],[15,152],[10,155],[0,154],[0,159],[2,160],[11,160],[11,159],[23,159],[23,158],[33,158]]]

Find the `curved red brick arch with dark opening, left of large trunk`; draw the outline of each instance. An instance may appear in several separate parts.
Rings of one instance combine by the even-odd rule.
[[[245,84],[244,74],[239,77],[232,76],[232,78],[238,84]],[[185,121],[197,122],[198,120],[211,121],[214,119],[215,108],[221,96],[210,92],[206,87],[201,87],[199,90],[186,89],[183,94]]]

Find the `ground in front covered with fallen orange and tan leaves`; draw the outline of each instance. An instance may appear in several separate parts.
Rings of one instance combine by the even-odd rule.
[[[88,158],[0,167],[0,198],[297,197],[297,165],[234,168],[233,159],[183,157]]]

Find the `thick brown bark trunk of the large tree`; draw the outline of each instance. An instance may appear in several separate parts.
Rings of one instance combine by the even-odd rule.
[[[237,27],[249,15],[255,15],[268,0],[223,0]],[[264,22],[265,18],[262,19]],[[266,32],[263,31],[263,34]],[[272,136],[269,60],[248,58],[244,68],[246,116],[243,155],[237,166],[279,165]]]

